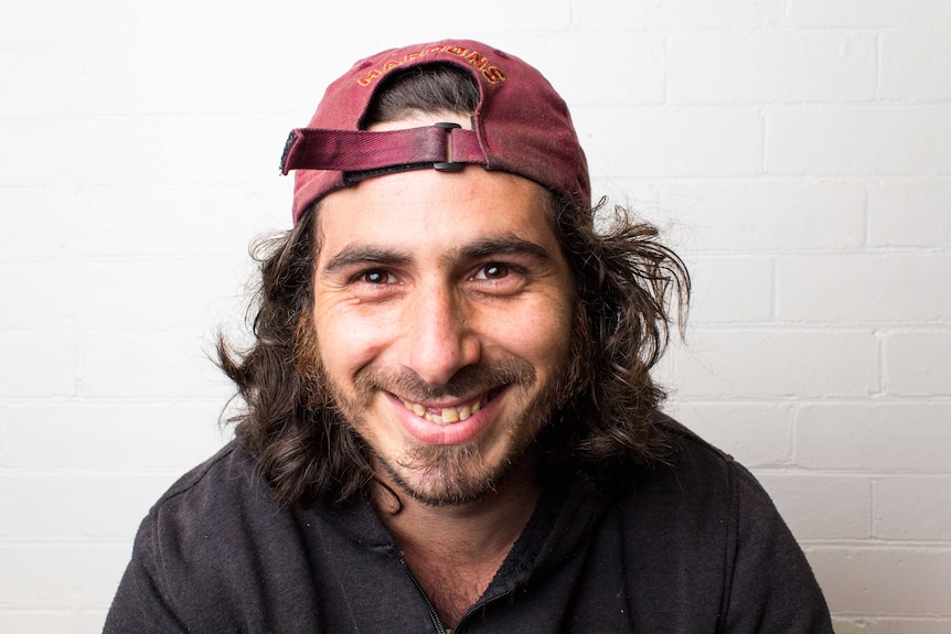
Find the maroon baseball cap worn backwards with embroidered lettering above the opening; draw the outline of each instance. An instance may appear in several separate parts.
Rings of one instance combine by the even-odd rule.
[[[394,73],[452,64],[479,86],[473,129],[438,123],[407,130],[362,130],[380,85]],[[568,107],[538,71],[469,40],[384,51],[332,83],[307,128],[291,131],[281,173],[296,170],[293,221],[312,203],[368,175],[466,164],[519,174],[590,206],[588,163]]]

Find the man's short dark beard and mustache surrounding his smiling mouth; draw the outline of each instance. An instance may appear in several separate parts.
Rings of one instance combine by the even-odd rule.
[[[565,365],[565,364],[563,364]],[[567,370],[562,368],[546,385],[536,385],[536,373],[525,361],[510,358],[460,369],[441,386],[426,384],[406,368],[364,368],[354,378],[354,394],[348,395],[325,373],[324,386],[336,410],[363,439],[371,463],[383,470],[396,487],[413,499],[429,506],[458,506],[477,502],[499,490],[512,469],[525,456],[560,405]],[[504,434],[504,454],[490,462],[485,450],[496,436],[478,437],[461,445],[405,443],[397,452],[384,453],[374,447],[370,430],[373,422],[364,412],[372,399],[386,391],[413,402],[452,397],[469,400],[500,389],[512,399],[517,415],[504,421],[496,434]],[[533,394],[534,393],[534,394]]]

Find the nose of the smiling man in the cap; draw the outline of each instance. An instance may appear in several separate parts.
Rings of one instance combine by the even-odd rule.
[[[429,385],[445,385],[459,369],[478,363],[481,344],[470,313],[451,288],[418,289],[404,312],[408,336],[403,364]]]

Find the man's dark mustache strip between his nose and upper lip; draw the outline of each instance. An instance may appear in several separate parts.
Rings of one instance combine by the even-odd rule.
[[[535,369],[519,358],[466,366],[442,385],[426,383],[406,367],[366,367],[354,377],[354,388],[361,399],[382,390],[414,402],[447,397],[468,400],[502,386],[534,383]]]

